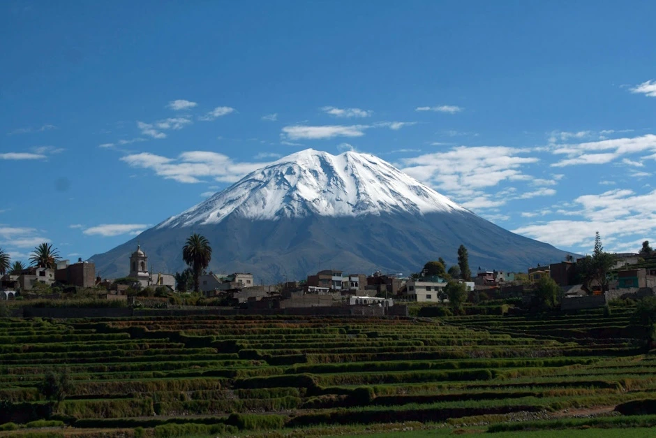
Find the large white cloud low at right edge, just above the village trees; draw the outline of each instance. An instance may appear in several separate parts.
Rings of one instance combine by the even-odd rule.
[[[613,250],[611,242],[620,238],[638,240],[656,233],[656,190],[635,194],[632,190],[616,189],[579,196],[571,208],[569,213],[580,214],[581,220],[547,221],[516,228],[514,233],[567,247],[587,244],[599,231],[607,251]]]

